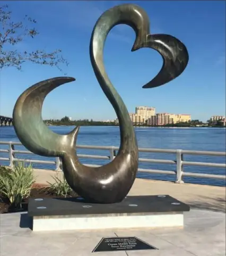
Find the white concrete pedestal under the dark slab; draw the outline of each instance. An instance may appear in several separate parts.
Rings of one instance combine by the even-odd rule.
[[[183,227],[182,212],[118,216],[34,216],[33,231]]]

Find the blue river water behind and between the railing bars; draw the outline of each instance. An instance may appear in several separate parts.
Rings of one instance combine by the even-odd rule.
[[[51,130],[58,134],[66,134],[73,129],[69,126],[52,126]],[[223,151],[225,152],[225,128],[156,128],[135,127],[135,133],[139,147],[168,148],[199,151]],[[18,142],[13,127],[0,127],[0,141]],[[95,146],[119,146],[119,127],[84,126],[80,128],[77,145]],[[0,145],[2,149],[8,149],[7,145]],[[15,150],[25,150],[23,146],[15,146]],[[109,155],[108,150],[78,149],[78,154]],[[0,152],[0,157],[7,158],[7,153]],[[140,153],[140,158],[176,160],[176,154],[166,153]],[[55,161],[54,158],[44,158],[38,155],[17,154],[16,158],[38,159]],[[185,161],[225,163],[225,156],[208,155],[184,155]],[[0,160],[0,164],[8,165],[7,161]],[[108,160],[80,159],[82,163],[106,164]],[[34,168],[55,169],[54,164],[33,164]],[[176,164],[140,163],[139,168],[155,170],[176,170]],[[225,168],[184,166],[186,172],[203,174],[225,175]],[[137,177],[155,180],[175,181],[175,175],[149,174],[140,172]],[[185,183],[225,186],[225,180],[184,177]],[[151,189],[151,188],[150,188]]]

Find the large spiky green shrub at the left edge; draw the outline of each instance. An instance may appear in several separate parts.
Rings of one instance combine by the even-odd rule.
[[[18,162],[7,175],[0,176],[0,194],[9,200],[10,207],[21,209],[35,181],[31,164],[26,167],[24,162]]]

